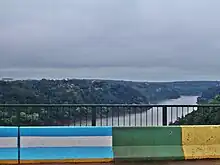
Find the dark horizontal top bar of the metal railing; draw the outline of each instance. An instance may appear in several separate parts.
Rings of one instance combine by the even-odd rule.
[[[0,104],[0,107],[220,107],[220,104],[182,104],[182,105],[163,105],[163,104]]]

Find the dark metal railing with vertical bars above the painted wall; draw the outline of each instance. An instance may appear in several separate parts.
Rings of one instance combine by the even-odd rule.
[[[220,105],[0,104],[1,126],[162,126]]]

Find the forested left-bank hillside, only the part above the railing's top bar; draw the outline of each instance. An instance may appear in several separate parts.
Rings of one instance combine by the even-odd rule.
[[[0,81],[1,104],[140,104],[178,98],[163,84],[105,80]]]

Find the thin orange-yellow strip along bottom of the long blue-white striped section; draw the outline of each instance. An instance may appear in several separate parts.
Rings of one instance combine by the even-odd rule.
[[[113,159],[65,159],[65,160],[21,160],[22,164],[40,163],[109,163]]]

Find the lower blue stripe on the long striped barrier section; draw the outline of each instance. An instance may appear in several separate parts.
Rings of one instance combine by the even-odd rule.
[[[112,147],[22,148],[21,160],[113,158]]]

